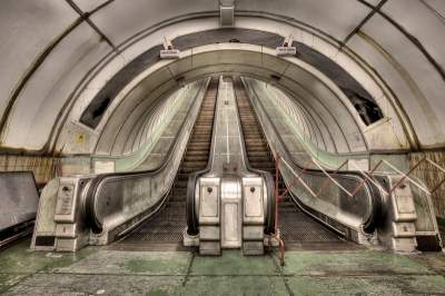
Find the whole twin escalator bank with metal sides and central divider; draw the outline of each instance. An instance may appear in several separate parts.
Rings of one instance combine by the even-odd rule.
[[[217,99],[218,81],[212,78],[202,82],[181,127],[169,136],[175,142],[159,168],[55,180],[57,196],[51,187],[46,199],[52,204],[38,216],[42,227],[36,224],[31,247],[76,251],[87,245],[109,245],[115,249],[165,250],[185,248],[184,238],[184,241],[188,239],[187,246],[202,247],[204,254],[211,250],[217,255],[220,248],[230,247],[230,241],[236,243],[235,247],[243,245],[245,254],[263,254],[265,235],[275,233],[278,220],[280,236],[288,248],[356,248],[349,241],[377,241],[376,230],[379,230],[386,246],[403,249],[405,240],[394,237],[392,229],[403,227],[404,220],[394,223],[382,211],[385,199],[380,188],[386,186],[388,190],[399,177],[382,175],[376,177],[377,181],[368,181],[357,171],[340,171],[333,178],[329,176],[335,172],[299,167],[294,162],[295,152],[287,149],[281,138],[281,130],[265,111],[273,107],[266,109],[250,85],[240,78],[234,82],[220,79],[224,91]],[[273,193],[275,160],[269,145],[281,156],[279,168],[284,180],[278,180],[279,194],[295,178],[304,185],[288,188],[289,195],[281,198],[277,213]],[[314,194],[312,188],[322,188],[327,177],[333,181],[332,188],[323,195]],[[200,178],[202,186],[198,187]],[[399,187],[403,198],[405,187]],[[210,197],[200,198],[201,193]],[[221,200],[236,206],[230,204],[231,211],[227,214],[226,209],[220,210]],[[241,204],[243,200],[247,204]],[[421,201],[424,200],[428,201]],[[201,201],[208,211],[199,210]],[[386,207],[393,205],[392,200],[385,203]],[[55,215],[46,215],[44,210],[52,210]],[[198,219],[201,213],[204,218]],[[429,217],[427,214],[425,210],[424,220]],[[46,225],[53,226],[52,230],[48,231]],[[204,235],[198,229],[201,226]],[[220,228],[230,234],[225,240],[218,234]],[[434,241],[441,243],[435,233],[409,234],[411,239],[414,235],[428,239],[434,236]],[[402,243],[394,247],[394,241]]]

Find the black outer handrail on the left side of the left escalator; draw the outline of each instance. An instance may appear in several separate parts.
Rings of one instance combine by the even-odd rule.
[[[197,101],[197,98],[201,93],[202,89],[207,89],[208,81],[207,82],[201,82],[202,85],[199,87],[198,91],[195,95],[194,100]],[[196,102],[191,105],[191,107],[187,111],[187,116],[185,117],[185,121],[187,118],[191,115]],[[170,162],[171,158],[174,157],[174,151],[176,150],[177,146],[179,145],[179,135],[185,132],[186,126],[182,125],[182,128],[180,128],[176,135],[175,135],[175,144],[169,147],[167,150],[167,157],[162,161],[162,164],[154,169],[148,169],[148,170],[140,170],[140,171],[118,171],[118,172],[107,172],[107,174],[100,174],[96,175],[91,180],[90,185],[88,186],[88,189],[85,194],[85,203],[83,203],[83,211],[86,214],[86,220],[87,225],[91,228],[91,230],[96,234],[102,231],[102,224],[97,219],[97,216],[95,215],[96,208],[96,198],[98,195],[98,191],[101,187],[101,185],[107,181],[108,179],[112,178],[125,178],[125,177],[137,177],[137,176],[156,176],[160,174]],[[191,135],[191,132],[190,132]]]

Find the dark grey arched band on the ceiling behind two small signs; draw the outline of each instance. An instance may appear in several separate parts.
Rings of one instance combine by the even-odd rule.
[[[257,45],[275,49],[283,43],[284,38],[279,34],[257,30],[222,28],[181,36],[174,39],[172,42],[175,43],[175,47],[177,49],[186,50],[211,43],[229,41],[234,42],[234,40],[240,43]],[[316,52],[304,43],[295,43],[299,49],[298,58],[317,68],[324,75],[335,81],[335,83],[347,93],[350,100],[358,96],[364,100],[374,102],[373,97],[350,75],[348,75],[333,60]],[[110,79],[110,81],[107,82],[107,85],[99,91],[99,93],[90,102],[88,108],[83,111],[80,121],[91,128],[96,128],[101,119],[99,111],[103,111],[106,109],[106,107],[116,98],[116,96],[122,89],[122,86],[128,85],[135,77],[137,77],[148,67],[160,60],[160,46],[156,46],[148,49],[138,58],[129,62],[117,75],[115,75]],[[274,73],[274,77],[276,79],[279,79],[279,71]]]

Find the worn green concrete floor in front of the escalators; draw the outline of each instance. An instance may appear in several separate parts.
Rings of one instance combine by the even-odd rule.
[[[0,251],[4,295],[445,295],[445,255],[291,250],[221,257],[188,251],[77,254],[28,250],[29,240]]]

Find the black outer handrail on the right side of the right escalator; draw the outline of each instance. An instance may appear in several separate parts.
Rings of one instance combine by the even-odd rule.
[[[244,82],[244,81],[243,81],[243,82]],[[244,83],[245,83],[245,82],[244,82]],[[245,87],[246,87],[246,85],[245,85]],[[247,87],[246,87],[246,89],[247,89]],[[254,95],[257,97],[257,101],[258,101],[260,108],[261,108],[263,110],[266,110],[266,108],[265,108],[265,106],[263,105],[261,100],[258,99],[258,93],[256,92],[256,90],[253,89],[253,88],[249,88],[249,89],[250,89],[250,90],[254,92]],[[249,96],[248,96],[248,99],[251,100],[251,98],[250,98]],[[270,121],[270,119],[269,119],[269,121]],[[277,139],[279,140],[279,142],[280,142],[280,145],[281,145],[281,147],[283,147],[285,154],[286,154],[286,156],[281,156],[281,157],[286,157],[286,160],[290,161],[290,164],[291,164],[293,166],[295,166],[296,168],[298,168],[299,170],[305,169],[305,174],[317,175],[317,176],[325,176],[324,172],[320,172],[320,171],[317,170],[317,169],[313,169],[313,168],[303,168],[301,166],[299,166],[298,164],[296,164],[296,162],[294,161],[294,159],[293,159],[291,157],[289,157],[290,152],[289,152],[289,150],[287,149],[287,147],[286,147],[286,145],[285,145],[284,140],[283,140],[283,138],[280,137],[280,134],[278,132],[277,127],[276,127],[274,124],[271,124],[271,121],[270,121],[270,127],[273,128],[274,132],[277,135]],[[326,172],[327,172],[327,174],[333,174],[334,170],[326,169]],[[337,172],[335,174],[335,176],[332,176],[332,177],[333,177],[333,178],[347,178],[347,179],[354,178],[354,179],[359,179],[360,181],[364,180],[364,177],[363,177],[358,171],[355,171],[355,170],[337,171]],[[370,208],[372,208],[372,210],[369,210],[367,217],[365,217],[365,219],[364,219],[363,228],[364,228],[365,230],[366,230],[366,229],[370,229],[370,231],[373,231],[374,228],[375,228],[375,226],[376,226],[376,224],[378,223],[378,217],[379,217],[379,215],[380,215],[380,206],[382,206],[382,199],[383,199],[383,197],[382,197],[382,191],[376,187],[376,185],[374,185],[373,182],[370,182],[370,181],[367,180],[367,179],[365,179],[362,189],[365,189],[365,190],[368,193],[368,196],[369,196],[369,204],[370,204]],[[379,200],[377,200],[377,198],[376,198],[376,193],[378,193],[378,194],[380,195]]]

